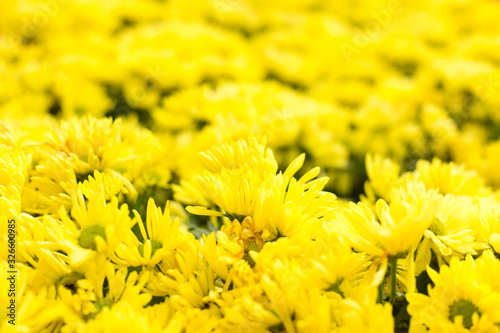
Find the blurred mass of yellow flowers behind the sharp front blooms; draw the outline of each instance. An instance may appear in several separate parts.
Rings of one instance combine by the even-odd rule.
[[[0,13],[1,117],[124,116],[154,133],[159,186],[249,133],[281,168],[306,152],[346,198],[363,192],[369,151],[500,185],[498,1],[19,0]]]

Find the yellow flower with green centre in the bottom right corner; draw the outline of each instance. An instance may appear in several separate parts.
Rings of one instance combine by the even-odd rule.
[[[439,273],[427,268],[434,283],[429,296],[406,295],[410,332],[499,332],[500,294],[480,272],[470,255],[464,261],[452,258]]]

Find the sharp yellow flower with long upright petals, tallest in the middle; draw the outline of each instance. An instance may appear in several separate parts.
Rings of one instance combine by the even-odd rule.
[[[198,215],[227,216],[242,221],[253,218],[255,231],[262,239],[296,232],[313,233],[323,217],[336,210],[336,197],[323,188],[328,178],[314,179],[320,172],[314,168],[299,180],[293,175],[304,163],[302,154],[284,173],[278,173],[270,150],[256,139],[222,145],[205,153],[205,171],[200,183],[210,200],[223,212],[205,207],[188,207]]]

